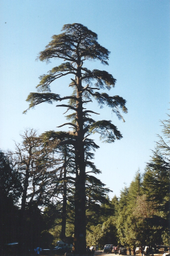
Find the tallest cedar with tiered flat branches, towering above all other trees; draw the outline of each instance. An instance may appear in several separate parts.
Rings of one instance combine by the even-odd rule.
[[[108,65],[107,59],[109,51],[97,42],[97,34],[90,31],[81,24],[64,25],[63,33],[53,35],[52,41],[46,46],[46,50],[39,53],[40,61],[50,61],[50,59],[63,59],[65,61],[58,67],[54,67],[47,75],[41,76],[41,81],[37,85],[39,93],[30,93],[27,101],[29,108],[33,108],[42,102],[52,103],[52,101],[65,101],[68,103],[57,105],[72,110],[73,114],[67,116],[69,123],[73,127],[72,134],[74,140],[68,139],[63,144],[72,144],[75,148],[75,229],[74,229],[74,252],[86,252],[86,189],[85,189],[85,168],[86,161],[84,147],[88,143],[87,136],[91,133],[100,133],[101,139],[105,142],[120,140],[122,135],[111,121],[95,121],[90,118],[90,114],[97,114],[92,110],[84,108],[84,104],[96,99],[99,106],[104,105],[112,108],[118,118],[122,119],[119,108],[127,112],[126,101],[119,96],[109,96],[107,93],[100,93],[101,89],[111,89],[114,87],[116,79],[107,71],[93,69],[92,71],[84,67],[86,60],[99,60],[102,64]],[[54,80],[63,76],[73,75],[71,86],[73,94],[65,97],[50,92],[50,84]],[[92,82],[96,81],[92,86]],[[71,132],[70,132],[71,133]]]

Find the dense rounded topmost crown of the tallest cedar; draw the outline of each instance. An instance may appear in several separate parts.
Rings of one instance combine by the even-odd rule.
[[[97,42],[97,34],[79,23],[64,25],[59,35],[53,35],[46,50],[39,52],[40,61],[60,58],[82,65],[87,59],[98,59],[108,65],[109,51]]]

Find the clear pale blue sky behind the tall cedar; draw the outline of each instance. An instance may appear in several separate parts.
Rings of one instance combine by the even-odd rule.
[[[100,119],[112,120],[123,138],[103,144],[97,138],[95,164],[107,187],[119,195],[129,186],[137,170],[143,172],[151,150],[161,133],[160,120],[169,112],[169,0],[1,0],[0,1],[0,82],[1,149],[14,149],[25,128],[39,134],[57,130],[65,110],[47,103],[22,114],[28,108],[27,95],[35,92],[39,76],[60,61],[46,65],[35,61],[52,35],[63,25],[82,23],[97,33],[99,44],[111,54],[109,66],[87,63],[89,68],[105,69],[117,79],[109,93],[127,101],[126,123],[108,109]],[[52,92],[67,94],[69,79],[58,81]],[[69,91],[68,91],[69,94]],[[93,110],[97,111],[97,105]],[[98,110],[99,111],[99,110]]]

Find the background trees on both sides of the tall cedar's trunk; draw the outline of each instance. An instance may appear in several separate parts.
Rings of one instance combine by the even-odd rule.
[[[111,200],[86,149],[88,245],[169,245],[170,120],[162,125],[163,136],[158,135],[143,174],[137,171],[131,185]],[[54,246],[58,239],[71,242],[75,170],[71,146],[59,146],[34,130],[24,132],[16,150],[0,153],[1,249],[10,242],[27,249]]]

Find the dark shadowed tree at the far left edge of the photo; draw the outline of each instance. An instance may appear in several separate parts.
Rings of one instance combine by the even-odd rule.
[[[12,168],[10,159],[0,152],[0,253],[6,243],[18,239],[18,207],[20,175]]]

